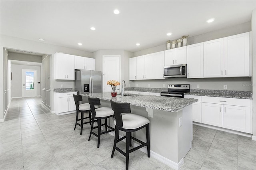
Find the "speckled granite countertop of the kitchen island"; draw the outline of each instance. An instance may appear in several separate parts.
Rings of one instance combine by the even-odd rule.
[[[149,96],[149,95],[136,95],[136,96],[121,96],[117,95],[112,97],[111,93],[90,93],[84,94],[84,96],[90,96],[100,98],[102,100],[110,101],[111,99],[119,103],[130,103],[130,105],[146,107],[156,110],[176,112],[184,107],[197,102],[197,99],[184,99],[175,97],[164,96]]]

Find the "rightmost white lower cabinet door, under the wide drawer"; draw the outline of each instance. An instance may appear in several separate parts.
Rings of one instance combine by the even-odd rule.
[[[223,127],[251,133],[250,107],[224,105]]]

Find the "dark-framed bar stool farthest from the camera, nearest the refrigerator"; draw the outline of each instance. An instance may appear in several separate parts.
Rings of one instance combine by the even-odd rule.
[[[74,101],[75,101],[75,104],[76,104],[76,125],[81,127],[81,131],[80,131],[80,135],[81,135],[82,131],[83,131],[83,125],[87,124],[87,123],[90,123],[90,125],[91,125],[91,122],[92,122],[91,108],[90,108],[89,103],[84,103],[84,104],[79,105],[78,102],[83,100],[82,95],[73,94],[73,97],[74,97]],[[96,108],[98,108],[98,106],[96,106]],[[79,112],[81,113],[81,119],[78,119]],[[88,113],[89,114],[88,117],[84,117],[84,113]],[[88,119],[88,118],[89,118],[89,121],[84,122],[84,119]],[[81,121],[81,124],[79,124],[78,121]],[[76,125],[75,125],[74,130],[76,130]]]

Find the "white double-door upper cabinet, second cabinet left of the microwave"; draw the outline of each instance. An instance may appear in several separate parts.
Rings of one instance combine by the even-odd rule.
[[[154,54],[142,55],[137,58],[137,80],[154,79]]]

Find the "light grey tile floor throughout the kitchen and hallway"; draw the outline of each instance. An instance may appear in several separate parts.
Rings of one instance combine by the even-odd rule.
[[[6,121],[0,123],[0,169],[124,170],[125,157],[115,152],[114,137],[101,136],[100,148],[90,126],[74,130],[75,114],[57,116],[42,107],[41,98],[12,99]],[[125,143],[120,142],[125,150]],[[130,155],[130,170],[172,170],[137,150]],[[256,170],[256,141],[248,137],[193,126],[192,149],[183,170]]]

